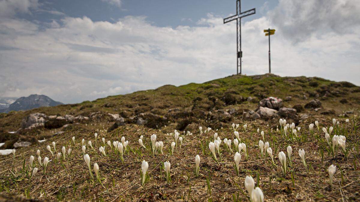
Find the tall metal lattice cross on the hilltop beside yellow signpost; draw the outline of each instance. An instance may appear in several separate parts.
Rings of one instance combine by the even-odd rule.
[[[255,8],[247,10],[245,12],[241,12],[241,5],[240,0],[236,1],[236,15],[224,18],[224,24],[236,20],[236,53],[237,53],[237,61],[236,61],[236,73],[239,73],[240,67],[240,74],[241,74],[241,58],[243,56],[243,52],[241,51],[241,18],[255,14]]]

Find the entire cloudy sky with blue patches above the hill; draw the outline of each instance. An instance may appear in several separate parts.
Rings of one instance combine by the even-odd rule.
[[[360,85],[360,0],[243,0],[243,73]],[[236,73],[235,0],[0,0],[0,97],[64,103]]]

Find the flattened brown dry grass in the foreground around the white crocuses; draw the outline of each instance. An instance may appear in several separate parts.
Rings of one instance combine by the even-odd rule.
[[[324,116],[317,118],[321,125],[330,126],[330,118]],[[343,158],[343,153],[339,152],[339,156],[332,158],[325,151],[323,162],[321,161],[320,145],[315,137],[311,137],[308,131],[308,124],[314,118],[304,121],[301,126],[300,134],[307,138],[303,142],[288,142],[281,138],[275,131],[271,132],[265,127],[265,121],[246,122],[248,132],[240,132],[240,138],[243,142],[247,142],[249,161],[246,161],[242,155],[240,162],[240,176],[237,176],[234,170],[234,154],[224,150],[222,143],[222,160],[220,165],[209,156],[210,151],[204,145],[205,155],[199,147],[199,141],[203,144],[212,139],[214,131],[200,135],[198,131],[192,131],[194,135],[184,136],[183,148],[174,152],[170,156],[168,148],[173,141],[164,132],[159,130],[144,128],[138,125],[122,126],[111,133],[100,133],[97,145],[95,147],[94,133],[96,126],[82,127],[90,129],[73,129],[66,131],[61,136],[55,136],[48,139],[41,146],[34,145],[28,148],[17,150],[14,167],[12,156],[6,156],[0,159],[0,183],[4,196],[9,191],[10,194],[23,195],[27,198],[40,200],[60,200],[60,201],[153,201],[153,200],[170,200],[170,201],[231,201],[247,200],[247,192],[244,188],[244,178],[251,175],[255,182],[257,175],[259,176],[259,187],[264,192],[266,201],[357,201],[359,198],[360,173],[359,173],[359,130],[354,132],[354,125],[345,124],[341,120],[341,126],[348,131],[346,145],[353,151],[350,151],[348,158]],[[244,123],[241,123],[244,124]],[[241,125],[240,124],[240,125]],[[357,125],[359,123],[357,122]],[[99,125],[98,125],[99,126]],[[242,125],[241,125],[242,126]],[[241,128],[240,126],[240,128]],[[204,128],[204,125],[203,125]],[[239,128],[239,130],[240,130]],[[278,165],[275,167],[269,159],[265,162],[260,159],[260,151],[257,146],[258,140],[261,138],[256,133],[256,128],[265,131],[265,139],[269,141],[270,147],[273,148],[274,161]],[[171,129],[165,129],[171,130]],[[317,129],[315,129],[317,131]],[[157,134],[157,141],[164,142],[164,153],[152,156],[150,151],[150,136]],[[231,138],[234,135],[229,124],[228,127],[217,131],[221,139]],[[316,132],[323,138],[323,132]],[[334,132],[333,132],[334,134]],[[356,135],[355,135],[356,134]],[[140,148],[138,139],[140,135],[144,135],[144,144],[147,149]],[[75,136],[76,145],[74,146],[71,137]],[[106,146],[107,157],[100,155],[98,148],[102,144],[101,138],[108,140],[120,141],[124,136],[129,140],[131,150],[124,154],[125,162],[122,163],[120,157]],[[97,162],[100,167],[100,175],[102,183],[106,187],[104,189],[98,182],[90,179],[87,166],[81,154],[81,139],[85,138],[93,142],[95,150],[87,148],[91,158],[91,165]],[[274,139],[273,139],[274,138]],[[278,139],[276,141],[276,138]],[[70,158],[66,158],[62,162],[55,164],[54,157],[50,157],[50,153],[46,150],[46,145],[54,141],[57,144],[57,152],[62,146],[66,148],[72,147],[73,153]],[[284,177],[277,158],[279,151],[286,153],[286,147],[291,145],[293,148],[293,167],[290,167],[287,175]],[[86,144],[87,146],[87,144]],[[275,151],[275,147],[277,150]],[[298,156],[298,149],[303,148],[306,151],[306,160],[309,170],[305,171],[304,166]],[[29,182],[28,178],[31,169],[28,167],[28,159],[30,155],[34,155],[36,150],[40,149],[41,157],[50,157],[53,161],[49,162],[46,174],[42,173],[37,160],[36,165],[39,168],[38,173]],[[141,151],[141,154],[139,153]],[[200,174],[195,178],[194,158],[199,154],[201,158]],[[23,160],[25,159],[25,169],[23,170]],[[218,157],[219,159],[219,157]],[[146,160],[149,163],[150,180],[144,187],[140,185],[141,161]],[[160,169],[161,162],[170,161],[171,163],[171,179],[170,184],[166,183],[165,171]],[[311,164],[311,165],[310,165]],[[334,175],[333,187],[328,184],[327,168],[334,164],[340,166]],[[356,165],[356,168],[354,167]],[[64,169],[65,168],[65,169]],[[341,171],[342,170],[342,174]],[[292,184],[291,174],[294,177],[294,187]],[[208,191],[207,179],[210,180],[211,194]],[[4,198],[3,200],[11,200]],[[22,198],[24,199],[24,198]],[[13,198],[14,201],[19,199]]]

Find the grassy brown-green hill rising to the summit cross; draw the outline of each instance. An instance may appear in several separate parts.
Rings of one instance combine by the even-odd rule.
[[[284,100],[285,107],[298,109],[296,117],[287,118],[298,130],[298,138],[289,139],[276,132],[280,116],[272,118],[246,119],[244,113],[256,111],[258,101],[269,96]],[[251,97],[251,98],[249,98]],[[290,98],[291,97],[291,98]],[[321,102],[319,109],[303,108],[313,99]],[[4,200],[28,198],[40,200],[109,200],[109,201],[139,201],[139,200],[194,200],[221,201],[247,200],[244,188],[244,178],[251,175],[262,189],[266,200],[330,200],[341,199],[354,201],[358,198],[357,180],[359,180],[359,114],[360,87],[348,82],[333,82],[321,78],[278,77],[273,74],[243,76],[233,75],[202,84],[190,83],[184,86],[166,85],[153,90],[138,91],[127,95],[109,96],[80,104],[41,107],[28,111],[0,114],[1,137],[8,143],[18,139],[32,138],[32,145],[4,157],[0,164],[0,197]],[[301,107],[301,108],[298,108]],[[92,113],[98,113],[100,118],[92,118]],[[37,127],[22,129],[23,118],[33,113],[44,113],[47,116],[73,115],[86,116],[89,120],[67,123],[66,127]],[[107,113],[119,114],[124,118],[125,125],[115,125],[117,121],[107,116]],[[224,115],[226,114],[226,116]],[[145,125],[138,125],[140,118],[148,119]],[[333,157],[328,150],[322,127],[330,127],[332,119],[336,118],[339,125],[334,128],[334,134],[346,136],[345,154],[339,148],[338,156]],[[354,119],[352,119],[354,118]],[[345,119],[350,119],[346,123]],[[309,124],[319,121],[320,131],[314,127],[314,134],[309,132]],[[249,159],[241,152],[239,176],[234,169],[234,153],[221,143],[221,160],[219,164],[210,155],[208,144],[213,141],[217,132],[221,140],[234,139],[232,123],[240,124],[238,129],[240,142],[247,145]],[[247,124],[247,131],[242,129]],[[199,134],[198,127],[203,130],[211,127],[207,133]],[[256,129],[265,132],[265,141],[273,148],[274,161],[261,157],[258,141],[261,138]],[[316,128],[316,129],[315,129]],[[190,131],[193,134],[183,134],[183,146],[171,155],[170,144],[174,141],[174,130]],[[62,134],[54,135],[55,132]],[[94,133],[99,134],[95,146]],[[157,134],[157,141],[164,143],[163,153],[152,155],[150,136]],[[141,148],[138,139],[144,136],[146,149]],[[72,137],[75,137],[75,145]],[[124,153],[124,162],[116,151],[106,142],[121,141],[124,136],[129,140],[128,150]],[[39,143],[36,140],[45,138]],[[81,139],[91,140],[94,150],[88,148],[91,167],[94,162],[100,167],[100,185],[91,180],[81,151]],[[105,138],[105,151],[102,156],[99,147],[104,146],[101,138]],[[331,140],[331,139],[330,139]],[[46,150],[46,145],[56,143],[57,152],[61,147],[72,148],[72,154],[65,160],[55,163],[55,158]],[[330,141],[331,142],[331,141]],[[7,144],[8,146],[11,144]],[[293,148],[292,166],[285,176],[278,160],[279,151],[286,153],[287,146]],[[51,146],[52,148],[52,146]],[[308,170],[302,165],[298,150],[306,151]],[[40,156],[49,157],[46,173],[36,161],[36,150]],[[52,148],[53,149],[53,148]],[[234,151],[236,148],[233,147]],[[194,175],[195,155],[201,158],[200,174]],[[323,155],[322,155],[323,154]],[[29,165],[30,155],[35,156],[39,172],[29,181],[32,168]],[[55,154],[56,155],[56,154]],[[219,156],[218,156],[219,158]],[[141,187],[141,161],[149,163],[149,181]],[[161,162],[171,162],[170,184],[166,183],[165,171]],[[23,164],[24,163],[24,164]],[[288,162],[289,163],[289,162]],[[334,175],[333,187],[328,185],[327,168],[334,164],[338,166]],[[341,169],[341,171],[340,171]],[[91,168],[91,170],[93,170]],[[94,174],[94,173],[93,173]]]

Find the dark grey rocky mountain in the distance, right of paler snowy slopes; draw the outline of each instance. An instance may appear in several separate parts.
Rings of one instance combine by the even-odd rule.
[[[20,110],[30,110],[38,107],[49,107],[62,105],[62,102],[57,102],[52,100],[46,95],[30,95],[28,97],[20,97],[10,104],[7,109],[1,110],[0,112],[9,112],[9,111],[20,111]],[[5,106],[5,105],[4,105]]]

